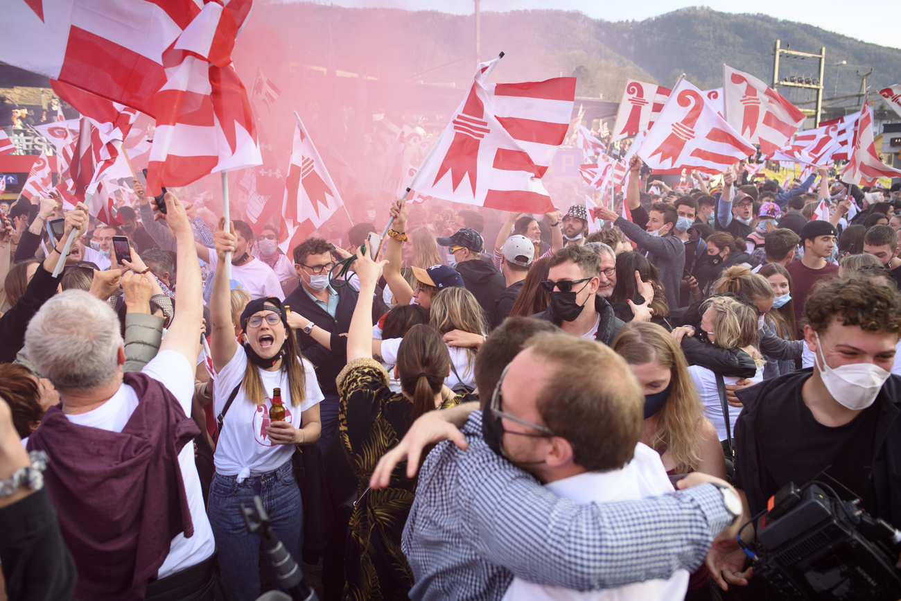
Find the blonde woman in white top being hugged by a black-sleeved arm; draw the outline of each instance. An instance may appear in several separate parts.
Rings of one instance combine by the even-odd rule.
[[[763,380],[764,365],[760,351],[754,348],[754,342],[758,339],[757,311],[750,305],[745,305],[728,296],[713,296],[701,305],[701,323],[697,330],[697,336],[721,349],[741,349],[747,352],[757,364],[757,373],[751,382],[754,384]],[[716,374],[699,365],[688,368],[691,377],[695,380],[697,392],[704,404],[704,411],[711,422],[716,426],[716,434],[721,441],[729,437],[726,433],[726,423],[723,414],[723,403],[720,400],[716,387]],[[735,384],[740,378],[724,376],[725,384]],[[729,434],[734,432],[735,420],[742,413],[742,407],[729,406]]]

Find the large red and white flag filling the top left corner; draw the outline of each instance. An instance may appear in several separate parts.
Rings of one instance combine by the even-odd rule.
[[[154,114],[153,96],[166,81],[163,52],[200,13],[199,5],[12,0],[0,19],[0,60]]]

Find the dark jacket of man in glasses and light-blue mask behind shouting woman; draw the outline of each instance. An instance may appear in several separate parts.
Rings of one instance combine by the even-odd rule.
[[[294,292],[287,296],[285,305],[291,307],[291,311],[299,313],[321,327],[332,332],[332,351],[313,340],[303,331],[296,331],[297,341],[300,342],[304,357],[313,363],[316,368],[316,378],[319,387],[325,396],[337,396],[338,387],[335,378],[341,369],[347,365],[347,338],[339,334],[346,334],[350,330],[350,318],[353,317],[353,309],[357,306],[357,292],[347,286],[336,289],[338,292],[338,307],[335,316],[328,314],[322,307],[316,305],[313,299],[302,289],[303,284],[297,284]],[[381,288],[376,287],[376,294],[372,299],[372,323],[387,313],[387,306],[382,301]]]

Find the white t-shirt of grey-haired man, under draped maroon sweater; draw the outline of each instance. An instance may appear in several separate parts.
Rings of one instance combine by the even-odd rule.
[[[141,369],[141,373],[159,381],[178,400],[178,404],[191,414],[194,398],[194,367],[177,351],[159,351],[156,357]],[[138,407],[138,395],[134,388],[123,384],[103,405],[84,414],[66,414],[68,421],[107,432],[122,432],[125,424]],[[194,523],[194,536],[185,538],[178,534],[169,544],[169,553],[157,572],[158,578],[166,578],[175,572],[194,566],[215,551],[213,529],[206,517],[204,494],[194,462],[194,444],[188,442],[178,453],[178,467],[185,482],[187,506]]]

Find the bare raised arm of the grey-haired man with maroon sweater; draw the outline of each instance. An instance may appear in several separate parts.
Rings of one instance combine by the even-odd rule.
[[[166,193],[164,200],[166,214],[160,215],[160,219],[168,223],[168,231],[176,241],[178,292],[175,314],[159,350],[180,352],[194,366],[200,352],[200,322],[204,317],[200,265],[197,263],[194,232],[187,221],[185,206],[171,192]]]

